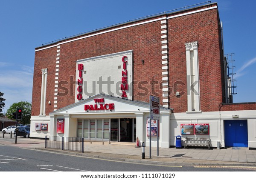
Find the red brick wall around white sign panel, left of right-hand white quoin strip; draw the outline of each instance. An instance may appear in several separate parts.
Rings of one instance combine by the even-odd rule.
[[[134,50],[134,100],[148,102],[149,94],[151,94],[151,77],[154,77],[158,84],[162,78],[160,26],[160,22],[157,21],[62,44],[59,56],[58,81],[59,85],[61,81],[67,81],[68,84],[62,86],[67,87],[69,92],[67,95],[58,96],[58,109],[75,102],[75,83],[73,80],[76,78],[77,60],[128,50]],[[46,102],[54,101],[56,50],[57,48],[53,47],[35,53],[32,115],[39,114],[42,68],[48,68]],[[144,65],[142,60],[145,61]],[[152,67],[154,67],[154,72]],[[71,90],[70,85],[72,86]],[[138,86],[143,86],[143,89],[138,88]],[[155,88],[157,91],[155,95],[161,97],[162,90],[159,89],[159,86],[155,86]],[[138,93],[143,95],[138,96]],[[53,111],[53,105],[46,109],[46,114],[51,111]]]

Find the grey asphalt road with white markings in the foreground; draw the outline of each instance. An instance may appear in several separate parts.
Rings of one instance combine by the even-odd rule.
[[[254,169],[255,171],[256,169]],[[0,171],[253,171],[228,167],[159,166],[0,146]]]

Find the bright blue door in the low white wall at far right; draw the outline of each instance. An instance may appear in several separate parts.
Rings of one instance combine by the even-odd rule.
[[[225,146],[248,147],[247,120],[225,120]]]

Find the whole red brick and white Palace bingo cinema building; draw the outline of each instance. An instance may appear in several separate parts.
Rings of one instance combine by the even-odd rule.
[[[256,148],[256,103],[229,84],[217,3],[131,20],[35,48],[30,136]]]

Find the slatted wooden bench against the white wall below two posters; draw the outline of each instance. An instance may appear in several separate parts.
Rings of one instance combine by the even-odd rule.
[[[188,146],[203,146],[210,150],[210,141],[209,137],[186,137],[184,149],[187,149]]]

